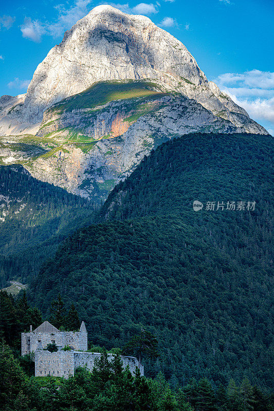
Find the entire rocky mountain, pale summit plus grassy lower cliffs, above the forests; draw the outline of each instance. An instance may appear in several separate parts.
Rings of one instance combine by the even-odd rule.
[[[162,141],[191,132],[268,134],[148,17],[98,6],[0,99],[2,164],[102,196]]]

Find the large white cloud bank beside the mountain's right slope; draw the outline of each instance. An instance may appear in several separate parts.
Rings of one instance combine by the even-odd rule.
[[[224,73],[214,81],[252,118],[267,120],[274,126],[274,72]]]

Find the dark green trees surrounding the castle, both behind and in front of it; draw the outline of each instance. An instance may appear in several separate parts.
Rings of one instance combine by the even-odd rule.
[[[64,329],[78,329],[78,313],[71,305],[67,312],[60,295],[51,302],[50,321]],[[111,359],[105,349],[90,373],[77,368],[74,376],[34,378],[32,354],[20,356],[20,333],[42,321],[41,312],[29,305],[26,293],[14,298],[0,292],[0,409],[3,411],[272,411],[274,397],[247,378],[213,387],[207,378],[192,378],[180,387],[169,384],[162,372],[156,378],[132,376],[122,369],[118,353]],[[157,339],[145,331],[132,341]],[[144,338],[144,340],[143,340]],[[151,341],[152,341],[151,340]],[[49,344],[53,346],[54,344]],[[47,346],[47,349],[49,348]],[[139,343],[137,343],[139,346]],[[130,345],[127,345],[128,347]],[[55,346],[56,347],[56,346]],[[54,350],[54,347],[52,347]],[[57,347],[56,347],[57,348]],[[94,347],[98,349],[99,347]],[[133,348],[133,346],[132,346]],[[68,347],[69,349],[69,347]],[[117,351],[117,348],[116,348]],[[115,351],[112,350],[112,353]],[[121,351],[120,351],[121,352]],[[152,354],[152,351],[151,351]]]

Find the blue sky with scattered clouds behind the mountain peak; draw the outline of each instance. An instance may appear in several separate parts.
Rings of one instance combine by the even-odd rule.
[[[148,15],[179,39],[209,80],[274,134],[272,0],[0,0],[0,95],[26,92],[64,31],[99,4]]]

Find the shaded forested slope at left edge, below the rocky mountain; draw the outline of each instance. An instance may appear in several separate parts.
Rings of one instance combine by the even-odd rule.
[[[90,220],[93,205],[33,178],[21,165],[0,166],[0,288],[28,282],[57,245]]]

